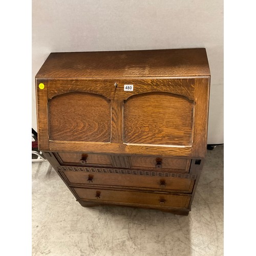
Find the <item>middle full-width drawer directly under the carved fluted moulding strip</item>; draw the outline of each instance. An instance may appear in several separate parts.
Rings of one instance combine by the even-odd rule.
[[[166,189],[191,193],[195,180],[180,177],[145,176],[116,173],[86,173],[63,171],[71,184],[91,184],[106,186],[137,187],[145,189]],[[169,174],[172,175],[172,174]],[[174,174],[175,175],[175,174]]]

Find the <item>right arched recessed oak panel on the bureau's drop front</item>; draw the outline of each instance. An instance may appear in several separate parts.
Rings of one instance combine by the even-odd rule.
[[[124,142],[190,146],[194,102],[170,93],[145,93],[124,101]]]

